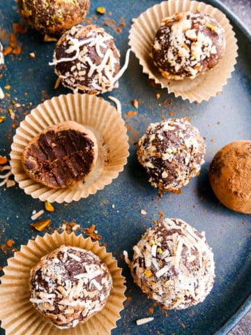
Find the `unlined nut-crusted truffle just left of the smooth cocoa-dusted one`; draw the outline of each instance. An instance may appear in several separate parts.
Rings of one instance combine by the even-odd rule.
[[[160,191],[178,192],[199,174],[206,145],[188,119],[150,124],[139,139],[137,158]]]

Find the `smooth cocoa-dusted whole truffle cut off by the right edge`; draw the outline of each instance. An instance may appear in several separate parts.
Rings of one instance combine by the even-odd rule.
[[[222,204],[251,214],[251,141],[231,142],[220,149],[209,167],[209,180]]]

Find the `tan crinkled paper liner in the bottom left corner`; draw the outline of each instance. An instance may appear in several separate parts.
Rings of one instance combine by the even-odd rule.
[[[41,257],[61,245],[77,246],[98,255],[107,265],[113,281],[109,298],[102,310],[85,323],[70,329],[56,328],[29,301],[31,268]],[[100,247],[98,242],[92,242],[90,237],[84,239],[82,234],[76,236],[66,232],[38,236],[34,241],[29,240],[28,245],[21,246],[21,250],[8,259],[8,266],[3,271],[0,285],[0,320],[6,335],[108,335],[116,328],[116,321],[121,318],[126,290],[121,269],[117,267],[112,253],[107,253],[104,246]]]

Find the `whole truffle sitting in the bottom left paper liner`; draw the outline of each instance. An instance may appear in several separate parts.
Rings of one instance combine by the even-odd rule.
[[[91,251],[61,246],[31,269],[30,301],[60,329],[75,327],[100,311],[112,276]]]

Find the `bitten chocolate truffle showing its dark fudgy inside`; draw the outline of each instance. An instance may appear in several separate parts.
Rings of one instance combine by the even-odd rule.
[[[27,144],[22,166],[31,179],[51,188],[72,186],[91,172],[98,144],[91,131],[75,121],[45,128]]]

